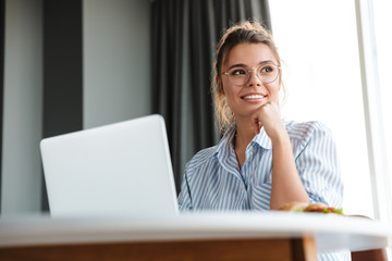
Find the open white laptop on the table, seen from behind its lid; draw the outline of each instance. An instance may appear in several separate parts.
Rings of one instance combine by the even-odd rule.
[[[179,212],[160,115],[46,138],[40,150],[52,216]]]

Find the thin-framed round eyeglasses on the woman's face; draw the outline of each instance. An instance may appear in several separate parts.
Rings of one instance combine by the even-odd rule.
[[[249,82],[250,73],[256,71],[257,77],[265,84],[274,82],[279,76],[280,67],[271,62],[264,63],[257,70],[246,70],[244,67],[233,67],[222,74],[228,75],[230,83],[242,86]]]

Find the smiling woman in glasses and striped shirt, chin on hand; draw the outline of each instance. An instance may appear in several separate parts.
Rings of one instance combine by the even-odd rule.
[[[281,119],[272,36],[254,22],[231,27],[218,44],[213,74],[224,135],[186,164],[180,209],[278,210],[291,201],[340,208],[343,186],[329,129]]]

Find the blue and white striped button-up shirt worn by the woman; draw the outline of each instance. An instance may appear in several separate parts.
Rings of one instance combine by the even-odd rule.
[[[330,130],[319,122],[284,122],[295,165],[310,202],[341,208],[343,184]],[[196,153],[186,164],[180,210],[269,211],[272,144],[265,129],[246,148],[240,169],[233,123],[217,146]],[[319,254],[319,260],[350,260],[350,253]]]

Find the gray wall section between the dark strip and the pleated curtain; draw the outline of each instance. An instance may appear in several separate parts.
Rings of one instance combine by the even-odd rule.
[[[84,127],[150,113],[148,0],[84,0]]]

